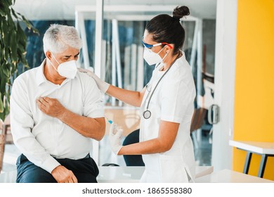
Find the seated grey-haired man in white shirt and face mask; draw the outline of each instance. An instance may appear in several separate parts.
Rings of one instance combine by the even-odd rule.
[[[46,59],[16,78],[11,131],[22,152],[17,182],[97,182],[91,139],[105,134],[103,96],[96,82],[77,72],[81,39],[74,27],[51,25]]]

